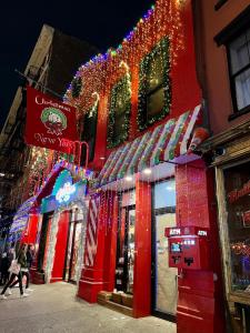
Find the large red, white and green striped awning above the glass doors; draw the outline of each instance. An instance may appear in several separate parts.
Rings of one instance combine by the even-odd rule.
[[[170,119],[153,131],[148,131],[142,137],[112,151],[99,174],[98,184],[106,185],[124,175],[154,167],[160,161],[171,161],[186,154],[200,109],[201,105],[198,105],[177,119]]]

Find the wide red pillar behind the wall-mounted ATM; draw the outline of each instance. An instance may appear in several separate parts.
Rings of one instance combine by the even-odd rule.
[[[211,234],[211,269],[209,271],[183,271],[179,279],[177,307],[178,333],[217,333],[223,330],[222,290],[220,275],[218,234],[214,229],[216,211],[213,179],[208,175],[203,162],[196,161],[178,165],[177,183],[177,222],[178,225],[209,228]],[[216,279],[214,279],[216,276]]]

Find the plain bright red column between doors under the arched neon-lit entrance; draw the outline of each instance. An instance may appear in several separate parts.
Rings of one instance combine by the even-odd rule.
[[[54,260],[50,282],[62,280],[69,231],[69,219],[70,212],[64,211],[60,214],[60,219],[58,221],[57,243],[54,249]]]

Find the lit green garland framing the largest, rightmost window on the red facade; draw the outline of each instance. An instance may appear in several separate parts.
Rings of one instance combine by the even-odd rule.
[[[163,80],[156,89],[148,93],[148,71],[152,59],[162,52],[163,57]],[[170,113],[171,107],[171,80],[170,80],[170,40],[168,37],[161,39],[154,48],[149,52],[140,63],[140,73],[139,73],[139,95],[138,95],[138,127],[140,131],[146,130],[148,127],[152,125],[159,120],[162,120],[167,114]],[[153,115],[151,119],[148,119],[148,98],[154,92],[163,88],[164,93],[164,103],[161,112]]]

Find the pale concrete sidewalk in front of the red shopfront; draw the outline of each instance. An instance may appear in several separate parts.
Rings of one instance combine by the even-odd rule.
[[[0,333],[176,333],[176,325],[167,321],[136,320],[76,299],[76,286],[68,283],[31,287],[29,297],[20,299],[14,289],[8,300],[0,300]]]

